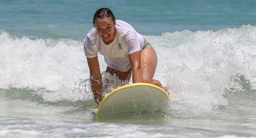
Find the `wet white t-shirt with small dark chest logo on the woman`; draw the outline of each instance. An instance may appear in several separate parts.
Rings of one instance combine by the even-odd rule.
[[[116,38],[109,45],[92,28],[84,39],[84,53],[87,58],[94,58],[97,53],[104,56],[106,64],[114,70],[130,70],[129,55],[143,48],[143,36],[125,21],[116,20]]]

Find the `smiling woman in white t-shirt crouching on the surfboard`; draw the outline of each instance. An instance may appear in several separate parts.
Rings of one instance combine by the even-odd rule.
[[[90,80],[94,100],[103,100],[103,83],[97,53],[104,56],[108,65],[106,72],[116,75],[122,81],[152,83],[163,88],[158,80],[153,80],[157,67],[157,55],[152,45],[125,21],[116,20],[112,11],[101,8],[93,18],[94,28],[84,39],[84,52],[90,70]]]

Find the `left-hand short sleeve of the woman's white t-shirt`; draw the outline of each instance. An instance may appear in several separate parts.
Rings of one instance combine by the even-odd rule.
[[[94,58],[95,56],[97,56],[96,45],[89,38],[89,36],[86,36],[86,38],[84,39],[84,53],[87,58]]]

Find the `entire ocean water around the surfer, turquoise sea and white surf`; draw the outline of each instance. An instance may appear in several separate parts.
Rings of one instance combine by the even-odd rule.
[[[155,78],[174,99],[164,112],[101,120],[92,113],[82,39],[101,7],[152,43]],[[256,137],[255,7],[253,0],[1,0],[0,137]],[[120,86],[110,79],[108,91]]]

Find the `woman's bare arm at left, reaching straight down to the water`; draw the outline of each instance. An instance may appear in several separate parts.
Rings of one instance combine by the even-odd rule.
[[[99,60],[96,57],[87,58],[87,63],[90,70],[90,82],[95,102],[99,105],[103,100],[103,83],[101,70],[99,68]]]

